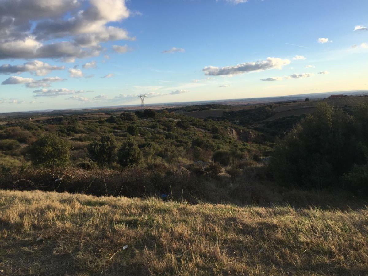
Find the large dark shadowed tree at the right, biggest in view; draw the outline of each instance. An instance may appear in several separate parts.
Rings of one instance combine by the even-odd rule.
[[[312,188],[342,187],[342,176],[354,164],[366,163],[355,125],[355,118],[343,110],[319,104],[276,146],[270,161],[276,180]]]

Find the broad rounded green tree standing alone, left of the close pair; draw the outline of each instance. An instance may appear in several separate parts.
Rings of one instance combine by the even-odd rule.
[[[28,153],[33,164],[44,167],[60,167],[69,164],[70,144],[54,134],[41,136],[31,146]]]

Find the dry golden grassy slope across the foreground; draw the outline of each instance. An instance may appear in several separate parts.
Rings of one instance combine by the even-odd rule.
[[[1,275],[367,275],[368,208],[0,190]],[[44,240],[36,242],[38,237]],[[124,245],[128,249],[122,250]]]

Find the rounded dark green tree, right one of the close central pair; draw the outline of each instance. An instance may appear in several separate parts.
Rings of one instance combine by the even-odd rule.
[[[131,167],[142,162],[142,152],[135,141],[128,139],[118,151],[118,162],[123,167]]]

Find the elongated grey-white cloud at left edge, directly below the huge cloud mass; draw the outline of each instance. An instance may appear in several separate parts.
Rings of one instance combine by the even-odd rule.
[[[0,74],[20,74],[29,72],[38,76],[49,74],[53,70],[63,70],[64,66],[52,66],[39,60],[29,61],[20,65],[3,64],[0,66]]]

